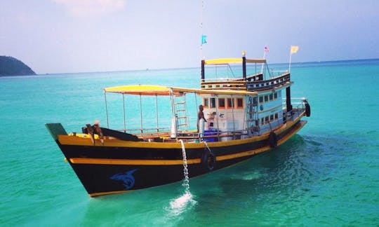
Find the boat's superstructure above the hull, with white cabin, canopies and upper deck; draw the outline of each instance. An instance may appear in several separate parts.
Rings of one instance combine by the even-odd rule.
[[[291,121],[295,113],[300,114],[306,100],[291,102],[291,80],[288,71],[277,71],[274,75],[264,59],[248,60],[242,58],[222,58],[201,61],[201,89],[170,88],[158,85],[126,85],[105,88],[109,92],[121,93],[124,102],[124,129],[144,141],[168,141],[171,139],[206,140],[208,142],[245,139],[264,135]],[[206,76],[207,75],[207,76]],[[192,94],[192,102],[187,106],[187,97]],[[140,104],[126,104],[128,97],[139,96]],[[155,97],[155,116],[157,119],[146,127],[142,113],[142,97]],[[166,97],[170,111],[164,114],[158,98]],[[133,99],[134,101],[137,99]],[[107,101],[106,101],[107,102]],[[151,102],[149,108],[151,108]],[[199,121],[199,104],[204,106],[204,118]],[[293,104],[296,104],[293,108]],[[106,105],[107,106],[107,105]],[[126,106],[140,106],[140,125],[126,127]],[[192,110],[189,110],[192,109]],[[135,112],[135,111],[133,111]],[[154,114],[149,111],[149,116]],[[146,121],[145,121],[146,123]],[[107,124],[108,110],[107,110]],[[161,125],[165,125],[161,127]],[[134,125],[136,126],[136,125]]]

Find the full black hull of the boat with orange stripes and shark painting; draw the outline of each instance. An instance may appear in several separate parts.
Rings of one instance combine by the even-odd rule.
[[[278,131],[277,144],[286,142],[305,123],[306,121],[298,121]],[[91,196],[160,186],[184,179],[180,143],[163,146],[162,144],[170,143],[105,142],[103,145],[96,141],[93,145],[90,139],[65,135],[65,130],[55,126],[57,125],[47,125],[68,163]],[[54,130],[60,135],[54,134]],[[189,177],[219,170],[268,151],[272,149],[269,138],[269,135],[265,135],[250,140],[185,144]],[[209,150],[215,160],[207,157]]]

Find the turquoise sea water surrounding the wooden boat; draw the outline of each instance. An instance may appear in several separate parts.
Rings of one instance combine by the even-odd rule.
[[[104,125],[102,88],[199,88],[199,69],[0,77],[0,226],[378,226],[379,60],[291,69],[312,116],[286,144],[190,179],[190,194],[178,182],[99,198],[44,124]]]

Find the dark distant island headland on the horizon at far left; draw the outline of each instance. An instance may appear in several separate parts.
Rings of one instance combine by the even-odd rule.
[[[0,76],[25,76],[36,73],[14,57],[0,56]]]

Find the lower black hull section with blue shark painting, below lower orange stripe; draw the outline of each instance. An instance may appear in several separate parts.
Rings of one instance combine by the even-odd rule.
[[[251,156],[217,161],[213,170],[239,163]],[[119,193],[171,184],[184,179],[183,165],[72,165],[91,196]],[[206,165],[188,165],[188,177],[197,177],[211,170]]]

